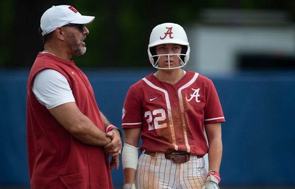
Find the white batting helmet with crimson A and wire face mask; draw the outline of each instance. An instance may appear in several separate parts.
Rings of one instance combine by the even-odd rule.
[[[161,44],[179,44],[182,46],[181,53],[179,54],[161,54],[157,55],[155,51],[155,46]],[[149,62],[153,67],[158,69],[176,69],[179,67],[183,67],[189,60],[190,47],[187,40],[187,36],[185,31],[181,26],[174,23],[164,23],[157,25],[153,28],[149,37],[148,44],[148,58]],[[170,57],[172,55],[176,55],[180,64],[176,67],[170,66]],[[168,67],[159,67],[158,61],[160,57],[168,56]]]

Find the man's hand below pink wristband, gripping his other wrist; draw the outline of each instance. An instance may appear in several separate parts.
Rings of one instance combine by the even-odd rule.
[[[122,142],[120,133],[118,130],[114,129],[106,134],[111,138],[111,142],[104,146],[107,153],[109,153],[112,157],[119,156],[122,150]]]

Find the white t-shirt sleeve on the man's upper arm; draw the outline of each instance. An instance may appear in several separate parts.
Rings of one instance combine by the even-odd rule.
[[[75,102],[67,79],[54,69],[38,72],[32,84],[32,91],[37,100],[47,109],[67,102]]]

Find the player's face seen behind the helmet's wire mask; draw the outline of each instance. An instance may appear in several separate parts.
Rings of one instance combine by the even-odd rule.
[[[180,54],[181,45],[178,44],[162,44],[155,47],[157,55],[163,54]],[[160,56],[158,61],[159,67],[178,67],[180,65],[180,59],[177,55],[170,55],[168,60],[168,55]]]

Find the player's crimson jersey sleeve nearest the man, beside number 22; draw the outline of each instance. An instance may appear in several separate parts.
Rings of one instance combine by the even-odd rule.
[[[122,128],[142,127],[142,102],[136,89],[131,86],[125,97],[122,110]]]

